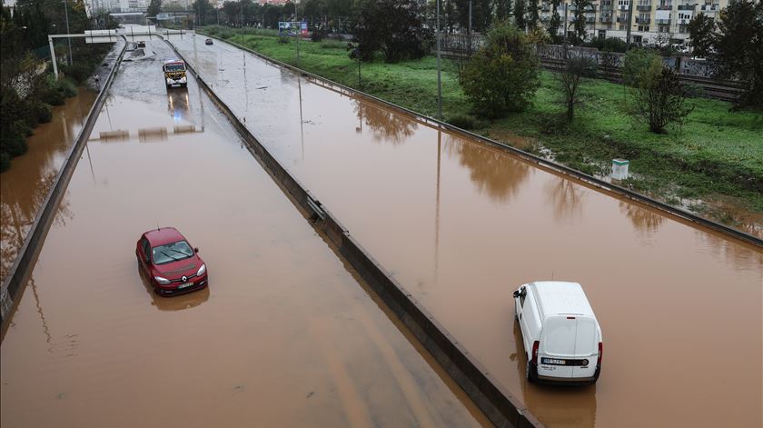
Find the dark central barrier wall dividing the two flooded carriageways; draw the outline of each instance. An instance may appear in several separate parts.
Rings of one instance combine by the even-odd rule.
[[[168,42],[169,44],[169,42]],[[171,45],[171,44],[170,44]],[[172,45],[171,45],[172,46]],[[176,49],[175,54],[183,58]],[[187,61],[186,61],[187,64]],[[233,114],[230,108],[214,94],[201,76],[188,65],[195,75],[197,83],[210,96],[233,126],[241,134],[260,162],[269,170],[272,177],[288,192],[292,200],[314,221],[316,229],[328,236],[336,245],[342,257],[361,274],[387,304],[391,311],[400,318],[434,356],[452,379],[471,397],[471,400],[485,413],[490,421],[500,427],[536,427],[543,425],[511,395],[490,373],[485,370],[455,337],[438,323],[437,320],[399,284],[391,275],[366,252],[361,244],[352,238],[350,232],[325,209],[310,192],[267,149],[254,138],[246,126]]]

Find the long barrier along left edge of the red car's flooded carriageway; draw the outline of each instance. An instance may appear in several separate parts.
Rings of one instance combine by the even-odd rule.
[[[12,314],[15,304],[17,304],[17,297],[23,290],[26,280],[29,278],[29,275],[32,274],[32,268],[37,261],[37,256],[40,254],[40,249],[45,242],[45,236],[50,230],[50,225],[53,223],[58,204],[60,204],[61,199],[66,192],[66,186],[68,186],[72,174],[74,174],[74,169],[82,155],[84,145],[87,144],[87,139],[93,131],[93,126],[98,118],[98,113],[104,106],[106,93],[114,82],[114,75],[116,74],[116,70],[119,68],[120,63],[122,63],[126,48],[127,42],[124,40],[122,51],[116,58],[116,61],[114,61],[114,66],[112,67],[109,76],[106,78],[104,85],[101,88],[101,92],[95,98],[93,106],[90,107],[90,111],[87,113],[87,119],[84,121],[82,129],[80,129],[79,134],[77,134],[77,137],[74,139],[74,144],[72,144],[72,148],[69,149],[69,153],[66,154],[66,160],[64,161],[64,164],[62,164],[61,169],[58,170],[54,184],[45,197],[45,202],[37,212],[35,223],[32,224],[26,233],[24,245],[22,245],[19,253],[16,255],[13,266],[11,266],[2,286],[0,286],[0,323],[2,323],[2,337],[5,337],[5,331],[11,318],[9,315]]]

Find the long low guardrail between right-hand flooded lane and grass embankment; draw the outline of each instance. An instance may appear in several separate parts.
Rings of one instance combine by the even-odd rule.
[[[199,33],[203,34],[202,32],[199,32]],[[569,166],[566,166],[566,165],[563,165],[563,164],[557,164],[555,162],[551,162],[551,161],[549,161],[547,159],[544,159],[544,158],[542,158],[540,156],[537,156],[535,154],[529,154],[527,152],[523,152],[523,151],[521,151],[520,149],[518,149],[516,147],[510,146],[509,144],[500,143],[498,141],[492,140],[492,139],[490,139],[488,137],[485,137],[485,136],[482,136],[480,134],[475,134],[475,133],[473,133],[471,131],[467,131],[467,130],[461,129],[459,127],[453,126],[452,124],[447,124],[447,123],[442,122],[442,121],[440,121],[438,119],[435,119],[435,118],[433,118],[431,116],[427,116],[427,115],[424,115],[424,114],[421,114],[421,113],[418,113],[418,112],[414,112],[413,110],[411,110],[409,108],[402,107],[400,105],[392,104],[389,101],[383,100],[383,99],[381,99],[379,97],[376,97],[374,95],[369,95],[369,94],[366,94],[366,93],[364,93],[362,91],[359,91],[357,89],[351,88],[349,86],[338,84],[336,82],[332,82],[331,80],[326,79],[325,77],[322,77],[320,75],[312,74],[310,72],[307,72],[307,71],[304,71],[304,70],[302,70],[300,68],[297,68],[297,67],[295,67],[293,65],[289,65],[289,64],[283,63],[282,61],[278,61],[276,59],[272,59],[272,58],[270,58],[268,56],[260,54],[259,52],[253,51],[252,49],[249,49],[248,47],[245,47],[245,46],[242,46],[242,45],[238,45],[238,44],[236,44],[236,43],[234,43],[234,42],[232,42],[230,40],[223,40],[223,39],[220,39],[219,37],[216,37],[214,35],[210,35],[210,36],[212,36],[212,37],[214,37],[214,38],[216,38],[218,40],[221,40],[221,41],[223,41],[223,42],[225,42],[227,44],[235,45],[235,46],[237,46],[237,47],[239,47],[239,48],[241,48],[241,49],[243,49],[243,50],[245,50],[245,51],[247,51],[247,52],[249,52],[249,53],[251,53],[253,55],[256,55],[256,56],[258,56],[260,58],[263,58],[263,60],[265,60],[265,61],[267,61],[267,62],[269,62],[269,63],[271,63],[273,65],[278,65],[278,66],[281,66],[281,67],[284,67],[284,68],[288,68],[289,70],[292,70],[292,71],[294,71],[296,73],[299,73],[301,75],[310,76],[313,80],[316,80],[318,82],[324,82],[326,84],[332,85],[333,87],[342,88],[342,90],[345,91],[348,95],[355,95],[355,96],[361,95],[362,97],[365,97],[365,98],[368,98],[370,100],[373,100],[373,101],[375,101],[377,103],[380,103],[381,105],[386,105],[386,106],[388,106],[388,107],[390,107],[390,108],[392,108],[392,109],[394,109],[394,110],[396,110],[398,112],[401,112],[401,113],[404,113],[404,114],[408,114],[409,116],[414,118],[414,120],[416,120],[416,118],[419,118],[419,120],[417,120],[417,122],[420,122],[422,124],[430,124],[430,125],[435,126],[435,127],[441,127],[441,128],[443,128],[445,130],[449,130],[449,131],[451,131],[454,134],[461,134],[461,135],[468,136],[468,137],[470,137],[473,140],[477,140],[477,141],[481,142],[482,144],[488,144],[488,145],[491,145],[491,146],[494,146],[494,147],[498,147],[498,148],[500,148],[500,149],[502,149],[502,150],[504,150],[506,152],[509,152],[511,154],[515,154],[516,156],[520,157],[520,159],[523,159],[523,160],[525,160],[527,162],[530,162],[532,164],[539,165],[540,167],[542,167],[543,169],[545,169],[547,171],[553,172],[555,174],[561,174],[561,175],[565,175],[565,176],[571,177],[571,178],[576,179],[576,180],[578,180],[578,181],[580,181],[582,183],[585,183],[585,184],[590,184],[591,186],[599,189],[600,191],[602,191],[604,193],[610,192],[612,194],[618,194],[621,197],[628,198],[628,199],[630,199],[632,201],[639,202],[640,204],[648,205],[648,206],[650,206],[652,208],[656,208],[659,211],[664,212],[665,214],[670,214],[670,215],[672,215],[672,216],[674,216],[676,218],[688,221],[689,223],[697,224],[697,225],[702,226],[702,227],[706,227],[706,228],[708,228],[710,230],[713,230],[715,232],[718,232],[718,233],[721,233],[721,234],[726,234],[726,235],[728,235],[728,237],[731,237],[731,238],[734,238],[734,239],[738,239],[739,241],[742,241],[742,242],[744,242],[746,244],[752,244],[752,245],[758,246],[759,248],[763,248],[763,240],[761,240],[757,236],[753,236],[751,234],[746,234],[746,233],[744,233],[742,231],[734,229],[733,227],[729,227],[726,224],[719,224],[718,222],[714,222],[712,220],[708,220],[707,218],[700,217],[697,214],[689,213],[688,211],[682,210],[682,209],[677,208],[675,206],[661,203],[661,202],[659,202],[659,201],[657,201],[655,199],[650,198],[649,196],[633,192],[632,190],[629,190],[629,189],[627,189],[625,187],[621,187],[621,186],[619,186],[617,184],[611,184],[611,183],[605,182],[605,181],[603,181],[603,180],[601,180],[599,178],[596,178],[596,177],[594,177],[592,175],[581,173],[580,171],[572,169]]]

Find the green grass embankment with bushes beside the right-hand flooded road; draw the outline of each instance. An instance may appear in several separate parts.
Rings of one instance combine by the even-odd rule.
[[[274,32],[249,30],[242,36],[220,27],[205,30],[297,65],[295,42],[280,43]],[[348,57],[346,43],[304,40],[300,53],[300,68],[358,87],[357,63]],[[436,114],[434,57],[392,65],[379,60],[361,67],[364,92],[422,114]],[[686,124],[669,129],[669,134],[652,134],[646,124],[629,115],[632,98],[623,86],[590,80],[582,88],[584,105],[568,124],[554,75],[543,71],[540,77],[542,85],[527,111],[492,122],[475,121],[475,131],[506,143],[512,134],[536,138],[540,145],[522,148],[538,152],[540,146],[546,147],[558,162],[589,174],[607,174],[612,158],[629,159],[635,177],[628,184],[669,204],[683,204],[683,198],[718,199],[763,212],[763,114],[732,113],[728,103],[692,98],[688,103],[694,110]],[[446,121],[460,126],[463,116],[471,114],[471,104],[458,83],[457,66],[448,60],[443,62],[442,112]],[[714,215],[733,220],[728,214]]]

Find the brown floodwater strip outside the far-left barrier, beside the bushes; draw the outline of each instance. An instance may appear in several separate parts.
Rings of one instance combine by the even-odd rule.
[[[53,120],[37,126],[35,134],[26,139],[26,154],[15,157],[11,169],[0,174],[0,283],[14,264],[26,232],[35,223],[40,205],[98,95],[85,87],[77,92],[64,105],[54,107]],[[59,210],[67,210],[65,198]]]

